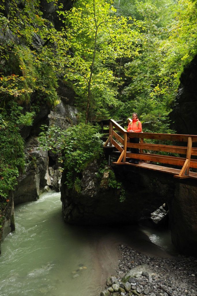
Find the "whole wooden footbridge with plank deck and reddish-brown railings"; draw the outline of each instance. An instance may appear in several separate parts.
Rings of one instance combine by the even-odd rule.
[[[130,121],[132,120],[128,118],[128,123]],[[118,160],[114,162],[115,165],[134,165],[141,168],[170,173],[173,174],[175,178],[197,179],[197,173],[190,171],[191,168],[197,168],[197,159],[191,158],[191,156],[197,156],[197,148],[192,147],[193,143],[197,143],[197,135],[129,133],[123,128],[124,125],[127,126],[127,122],[124,120],[117,122],[113,119],[102,121],[102,131],[105,131],[105,126],[109,128],[108,135],[105,135],[108,136],[108,138],[105,141],[104,148],[111,148],[113,150],[117,149],[120,152]],[[139,144],[128,142],[129,138],[139,138]],[[187,142],[187,147],[166,144],[149,144],[145,142],[145,139],[170,141],[175,143]],[[139,148],[140,153],[131,153],[127,151],[128,148]],[[150,151],[157,151],[158,154],[150,153]],[[170,155],[164,155],[162,152],[168,152]],[[139,164],[128,163],[127,158],[138,159],[140,162]],[[157,165],[152,163],[157,163]],[[158,163],[167,164],[167,166],[161,166],[158,165]],[[169,165],[171,165],[172,168],[170,168]],[[174,168],[175,166],[178,168]]]

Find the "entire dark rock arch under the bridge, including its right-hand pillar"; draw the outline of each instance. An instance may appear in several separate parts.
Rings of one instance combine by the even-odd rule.
[[[133,166],[114,166],[122,182],[126,200],[109,186],[108,176],[97,178],[95,161],[83,171],[81,192],[68,189],[62,175],[61,200],[64,220],[71,224],[137,223],[151,217],[164,203],[168,205],[172,242],[184,254],[196,255],[197,187],[194,180],[178,180],[172,175]]]

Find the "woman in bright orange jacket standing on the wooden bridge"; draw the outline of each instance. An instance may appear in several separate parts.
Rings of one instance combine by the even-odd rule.
[[[132,121],[128,124],[127,131],[129,133],[141,133],[142,132],[141,122],[138,119],[137,113],[132,114]],[[129,138],[129,142],[139,144],[139,138]],[[131,148],[131,153],[139,154],[139,149],[138,148]],[[139,159],[131,158],[129,160],[129,163],[138,164]]]

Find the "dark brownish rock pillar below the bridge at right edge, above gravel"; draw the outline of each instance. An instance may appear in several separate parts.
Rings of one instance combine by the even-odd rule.
[[[184,254],[196,256],[197,246],[197,188],[176,184],[173,200],[169,202],[172,242]]]

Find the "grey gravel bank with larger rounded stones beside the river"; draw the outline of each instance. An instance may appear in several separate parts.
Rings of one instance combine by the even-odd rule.
[[[119,250],[118,276],[107,279],[101,296],[197,296],[196,258],[152,258],[125,245],[120,245]],[[145,266],[148,272],[143,271]],[[135,267],[139,274],[131,276]]]

